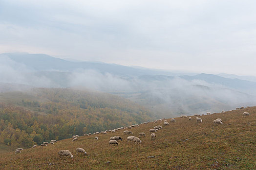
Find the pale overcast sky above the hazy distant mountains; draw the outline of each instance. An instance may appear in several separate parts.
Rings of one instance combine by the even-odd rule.
[[[0,0],[0,53],[256,75],[256,0]]]

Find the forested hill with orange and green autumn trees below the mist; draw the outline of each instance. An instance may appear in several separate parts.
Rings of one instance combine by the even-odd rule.
[[[150,118],[138,104],[101,92],[34,88],[0,93],[0,144],[27,148]]]

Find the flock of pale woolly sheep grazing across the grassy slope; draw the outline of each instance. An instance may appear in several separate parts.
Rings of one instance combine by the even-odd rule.
[[[248,107],[249,107],[249,106],[248,106]],[[248,107],[247,107],[247,108],[248,108]],[[243,108],[243,107],[241,107],[241,108],[236,108],[236,109],[242,109],[242,108]],[[222,113],[225,113],[225,112],[222,111]],[[215,114],[215,112],[214,112],[213,114]],[[202,114],[202,116],[203,116],[203,115],[204,115],[204,114]],[[206,115],[211,115],[211,113],[210,113],[210,112],[207,112]],[[200,115],[195,114],[194,116],[196,117],[196,123],[197,123],[197,122],[202,122],[202,118],[199,118],[199,117],[198,117],[198,116],[200,116]],[[248,112],[243,112],[243,117],[245,117],[245,116],[250,116],[250,114],[249,114]],[[180,118],[187,118],[187,116],[186,116],[186,115],[185,115],[185,116],[180,116]],[[189,119],[189,120],[192,120],[191,117],[189,117],[188,119]],[[165,118],[153,120],[152,122],[157,123],[158,121],[164,121],[164,125],[170,125],[170,123],[176,122],[176,120],[175,120],[174,118],[171,118],[171,119],[170,119],[170,123],[169,123],[167,120],[165,120]],[[144,122],[144,123],[141,123],[141,124],[148,124],[148,123],[149,123],[149,122]],[[213,123],[214,123],[214,124],[223,124],[223,122],[222,122],[222,120],[221,120],[220,118],[213,120]],[[131,129],[132,127],[138,127],[138,126],[139,126],[138,124],[135,124],[135,125],[131,125],[131,126],[128,126],[128,127],[125,126],[125,127],[120,127],[120,128],[113,129],[113,130],[106,130],[106,131],[100,132],[100,133],[99,133],[99,132],[95,132],[95,133],[93,133],[93,134],[91,134],[91,133],[89,133],[89,134],[84,134],[84,136],[97,135],[97,134],[106,135],[107,132],[115,133],[115,132],[118,131],[118,130]],[[156,134],[155,134],[155,133],[156,133],[158,130],[161,130],[161,129],[163,129],[163,127],[160,126],[160,125],[157,125],[157,126],[155,126],[154,128],[152,128],[152,129],[149,129],[149,132],[151,133],[151,134],[150,134],[150,139],[151,139],[151,140],[154,140],[154,139],[156,138]],[[124,134],[125,134],[125,135],[132,135],[133,133],[132,133],[130,130],[125,130],[125,131],[124,131]],[[146,136],[146,134],[145,134],[144,132],[139,133],[139,136],[138,136],[138,137],[135,137],[135,136],[128,136],[128,137],[127,137],[127,142],[133,141],[135,144],[141,144],[141,143],[142,143],[141,138],[142,138],[142,137],[145,137],[145,136]],[[78,140],[79,137],[80,137],[79,135],[72,136],[72,141],[74,142],[74,141]],[[98,139],[99,139],[98,136],[95,136],[94,138],[95,138],[95,140],[98,140]],[[109,146],[110,146],[110,145],[118,145],[118,141],[119,141],[119,140],[122,141],[122,140],[123,140],[122,137],[120,137],[120,136],[111,136],[111,137],[110,137],[110,140],[109,140]],[[56,141],[56,140],[51,140],[51,141],[50,141],[50,144],[54,144],[55,142],[57,142],[57,141]],[[43,144],[41,144],[41,146],[47,146],[47,144],[48,144],[48,142],[43,142]],[[35,147],[37,147],[37,145],[32,146],[32,148],[35,148]],[[15,154],[16,154],[16,153],[21,153],[22,150],[23,150],[22,148],[17,148],[16,151],[15,151]],[[77,153],[77,154],[78,154],[78,153],[83,153],[83,154],[85,154],[85,155],[87,154],[83,148],[77,148],[77,149],[76,149],[76,153]],[[72,155],[72,153],[71,153],[70,151],[68,151],[68,150],[61,150],[61,151],[58,152],[58,155],[60,155],[60,157],[62,157],[62,156],[70,156],[71,158],[74,157],[74,156]]]

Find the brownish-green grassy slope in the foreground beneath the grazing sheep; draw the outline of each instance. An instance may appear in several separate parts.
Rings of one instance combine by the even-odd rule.
[[[242,118],[245,111],[251,115]],[[140,146],[123,140],[118,146],[109,147],[110,136],[126,139],[121,130],[99,134],[98,141],[94,136],[82,136],[76,142],[64,139],[55,145],[26,149],[18,155],[14,152],[0,154],[0,169],[256,169],[256,107],[201,118],[202,123],[196,123],[192,117],[192,121],[176,118],[169,126],[158,121],[135,127],[132,129],[134,136],[146,133]],[[217,118],[224,124],[213,125]],[[162,125],[163,129],[152,141],[149,129],[155,125]],[[75,155],[77,147],[84,148],[88,155]],[[60,159],[59,150],[71,151],[74,158]],[[148,158],[151,155],[155,157]]]

